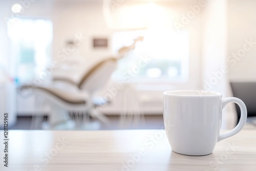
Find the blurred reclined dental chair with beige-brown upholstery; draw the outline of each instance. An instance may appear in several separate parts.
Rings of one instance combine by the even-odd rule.
[[[84,73],[78,82],[68,78],[54,78],[55,81],[64,81],[72,84],[77,91],[69,91],[53,86],[21,86],[19,91],[30,91],[33,94],[45,97],[50,104],[49,115],[50,129],[70,120],[70,113],[81,113],[83,115],[97,118],[103,123],[108,123],[108,117],[100,113],[96,108],[108,103],[107,100],[93,100],[93,93],[103,88],[116,68],[117,58],[103,59]],[[82,117],[87,118],[87,117]]]

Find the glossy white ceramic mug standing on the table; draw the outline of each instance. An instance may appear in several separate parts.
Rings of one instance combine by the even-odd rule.
[[[220,134],[222,109],[234,102],[241,119],[231,131]],[[167,91],[163,93],[165,131],[176,153],[191,156],[211,154],[217,142],[242,130],[247,118],[244,102],[236,97],[222,98],[217,92]]]

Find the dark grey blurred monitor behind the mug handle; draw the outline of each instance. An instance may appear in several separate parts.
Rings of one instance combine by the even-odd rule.
[[[230,82],[233,96],[240,98],[246,105],[247,117],[256,116],[256,82]],[[238,122],[241,111],[236,104]]]

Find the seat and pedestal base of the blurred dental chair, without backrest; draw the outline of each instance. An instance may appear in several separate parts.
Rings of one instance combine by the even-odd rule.
[[[84,112],[89,109],[88,96],[81,93],[69,92],[54,87],[45,86],[22,86],[18,88],[20,94],[33,94],[36,97],[44,97],[50,105],[50,113],[48,115],[48,129],[56,129],[62,125],[62,129],[68,129],[67,121],[70,120],[68,111],[75,110]],[[36,106],[39,108],[40,106]],[[40,116],[35,116],[40,118]],[[34,124],[34,123],[33,123]]]

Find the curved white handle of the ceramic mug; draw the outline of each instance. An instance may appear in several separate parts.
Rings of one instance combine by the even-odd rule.
[[[244,102],[242,100],[240,100],[239,98],[236,98],[236,97],[227,97],[227,98],[223,98],[222,99],[222,109],[225,107],[225,105],[227,103],[230,103],[230,102],[234,102],[234,103],[237,103],[240,107],[240,110],[241,110],[241,118],[239,120],[239,123],[238,125],[231,131],[227,132],[227,133],[223,133],[223,134],[220,134],[219,137],[218,137],[218,141],[221,141],[221,140],[224,140],[228,137],[231,137],[233,135],[236,135],[237,133],[239,133],[245,123],[246,123],[246,119],[247,119],[247,109],[246,109],[246,106],[244,104]]]

